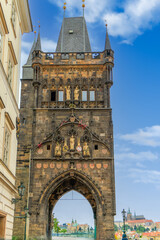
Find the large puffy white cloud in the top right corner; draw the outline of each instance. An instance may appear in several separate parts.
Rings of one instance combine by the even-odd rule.
[[[112,11],[104,18],[108,20],[112,36],[132,39],[160,22],[160,1],[127,0],[122,12]]]

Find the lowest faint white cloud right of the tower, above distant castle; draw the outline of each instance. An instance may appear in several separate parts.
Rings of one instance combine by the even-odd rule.
[[[132,168],[129,170],[129,177],[136,183],[154,184],[160,188],[160,171]]]

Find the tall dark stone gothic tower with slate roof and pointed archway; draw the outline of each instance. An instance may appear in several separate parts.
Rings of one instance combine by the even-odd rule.
[[[105,50],[92,52],[84,17],[64,18],[55,53],[41,50],[40,34],[23,66],[17,186],[26,187],[16,216],[29,209],[27,234],[49,239],[51,214],[75,190],[91,204],[96,239],[114,239],[115,180],[110,88],[114,66]],[[15,218],[14,235],[25,220]]]

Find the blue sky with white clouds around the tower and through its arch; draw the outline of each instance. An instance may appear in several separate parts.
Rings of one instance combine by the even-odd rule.
[[[63,19],[62,0],[29,0],[34,30],[40,21],[43,51],[55,51]],[[82,15],[81,0],[67,0],[66,17]],[[92,51],[103,51],[105,22],[115,52],[111,89],[115,141],[115,220],[128,208],[160,221],[160,0],[86,0]],[[22,65],[34,34],[22,38]],[[82,198],[74,192],[74,199]],[[72,193],[64,198],[72,198]],[[70,209],[70,210],[69,210]],[[83,211],[82,211],[83,209]],[[59,201],[61,223],[78,218],[93,225],[87,201]]]

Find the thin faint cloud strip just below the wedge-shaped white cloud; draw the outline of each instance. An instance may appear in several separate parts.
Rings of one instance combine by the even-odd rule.
[[[119,161],[152,161],[152,160],[157,160],[158,155],[155,153],[152,153],[150,151],[147,152],[138,152],[138,153],[133,153],[133,152],[126,152],[126,153],[117,153],[115,154],[115,158]]]

